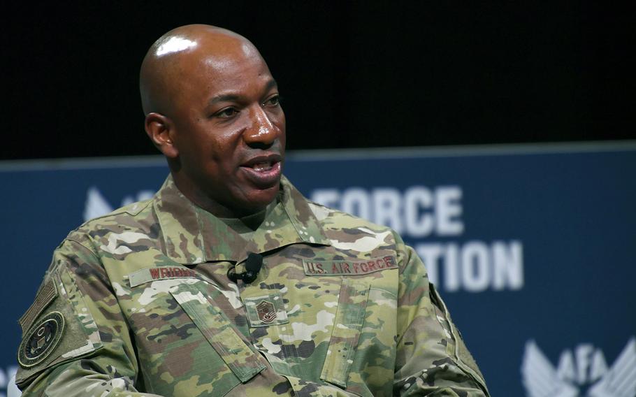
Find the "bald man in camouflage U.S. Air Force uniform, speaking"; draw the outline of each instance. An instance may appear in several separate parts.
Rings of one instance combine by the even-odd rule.
[[[180,27],[140,77],[171,176],[55,251],[20,319],[25,396],[488,395],[412,248],[282,177],[249,41]]]

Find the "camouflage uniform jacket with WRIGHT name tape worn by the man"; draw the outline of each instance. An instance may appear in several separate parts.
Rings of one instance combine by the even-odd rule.
[[[279,201],[245,241],[168,177],[69,233],[20,319],[24,395],[488,395],[395,232],[284,178]]]

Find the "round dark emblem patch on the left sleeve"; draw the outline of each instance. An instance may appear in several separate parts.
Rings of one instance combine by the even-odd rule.
[[[23,368],[36,366],[44,361],[57,347],[64,332],[64,316],[60,312],[50,312],[38,325],[24,335],[17,361]]]

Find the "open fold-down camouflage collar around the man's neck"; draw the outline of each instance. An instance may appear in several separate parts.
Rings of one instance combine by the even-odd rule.
[[[153,203],[164,253],[180,264],[240,263],[247,252],[263,254],[294,243],[330,245],[303,195],[287,178],[282,177],[280,185],[279,203],[248,242],[221,219],[192,203],[169,175]]]

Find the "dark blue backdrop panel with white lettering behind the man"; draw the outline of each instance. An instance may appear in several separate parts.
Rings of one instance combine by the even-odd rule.
[[[0,164],[0,396],[52,251],[167,173],[159,157]],[[284,173],[417,250],[493,396],[636,395],[636,142],[291,152]]]

